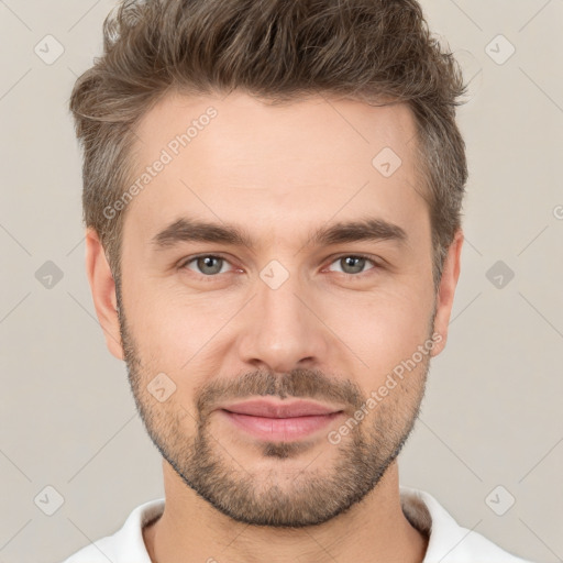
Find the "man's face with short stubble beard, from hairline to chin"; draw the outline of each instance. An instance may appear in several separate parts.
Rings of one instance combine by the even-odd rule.
[[[200,119],[210,107],[214,117]],[[177,135],[194,120],[183,146]],[[128,206],[118,294],[148,433],[187,485],[239,521],[327,521],[395,460],[437,353],[410,110],[175,96],[136,134],[139,176],[165,162]],[[374,236],[358,236],[368,221],[379,221]],[[352,222],[364,229],[314,236]],[[236,229],[244,243],[219,229]],[[309,417],[305,430],[303,417],[294,426],[262,418],[257,429],[256,417],[227,412],[255,398],[309,399],[334,415]]]

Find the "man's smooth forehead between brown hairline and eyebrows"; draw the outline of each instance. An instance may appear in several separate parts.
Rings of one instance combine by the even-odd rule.
[[[176,93],[135,134],[131,184],[140,189],[125,230],[142,227],[147,240],[183,216],[287,238],[332,217],[376,214],[408,228],[427,213],[406,104],[318,96],[272,106],[241,92]]]

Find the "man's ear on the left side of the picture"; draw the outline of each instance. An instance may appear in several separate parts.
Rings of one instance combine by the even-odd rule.
[[[113,275],[98,233],[90,228],[86,231],[86,274],[106,345],[118,360],[123,360]]]

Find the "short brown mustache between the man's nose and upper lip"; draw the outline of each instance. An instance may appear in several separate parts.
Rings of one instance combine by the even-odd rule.
[[[351,410],[357,410],[365,400],[353,382],[328,376],[318,369],[303,368],[282,375],[247,372],[236,379],[208,382],[197,390],[196,396],[196,407],[201,418],[214,410],[221,401],[255,396],[325,400],[350,405]]]

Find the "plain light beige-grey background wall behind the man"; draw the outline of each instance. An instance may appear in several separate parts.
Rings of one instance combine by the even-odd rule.
[[[67,110],[112,5],[0,0],[0,563],[62,561],[163,495],[96,320]],[[509,551],[563,561],[563,1],[423,7],[474,77],[460,110],[471,179],[449,343],[401,483]]]

